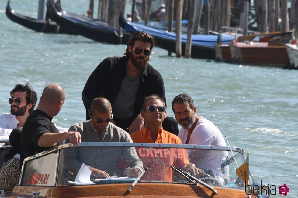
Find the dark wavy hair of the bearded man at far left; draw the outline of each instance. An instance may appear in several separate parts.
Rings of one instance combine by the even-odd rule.
[[[26,92],[27,96],[26,96],[26,105],[28,104],[32,104],[31,109],[29,109],[29,113],[31,113],[34,110],[34,107],[36,105],[37,102],[37,94],[34,91],[34,89],[32,89],[31,85],[27,82],[25,85],[21,85],[21,84],[17,84],[15,86],[15,88],[12,89],[12,91],[10,92],[10,96],[12,97],[13,94],[17,91],[20,92]]]

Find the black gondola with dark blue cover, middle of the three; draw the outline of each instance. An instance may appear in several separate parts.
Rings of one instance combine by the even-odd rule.
[[[119,28],[111,27],[107,22],[66,12],[63,9],[57,10],[56,6],[53,6],[51,15],[57,24],[97,42],[126,44],[130,37],[130,33],[119,33]]]

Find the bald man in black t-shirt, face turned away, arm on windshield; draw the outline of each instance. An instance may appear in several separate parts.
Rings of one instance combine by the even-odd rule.
[[[74,131],[59,133],[52,122],[53,117],[61,110],[65,97],[60,85],[50,84],[43,89],[36,110],[28,116],[23,126],[20,167],[26,157],[58,146],[65,139],[69,139],[73,145],[81,142],[80,133]]]

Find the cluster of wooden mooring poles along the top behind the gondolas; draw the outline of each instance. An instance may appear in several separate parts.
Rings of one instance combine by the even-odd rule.
[[[128,1],[128,0],[127,0]],[[148,24],[151,4],[153,0],[142,1],[141,16]],[[290,12],[288,12],[288,0],[253,0],[255,17],[259,32],[274,32],[280,30],[287,32],[289,29],[298,29],[298,0],[292,0]],[[208,2],[208,3],[206,3]],[[230,26],[231,6],[239,6],[241,10],[238,26],[243,29],[243,35],[248,30],[249,8],[251,0],[165,0],[166,21],[168,31],[173,30],[173,20],[176,21],[176,56],[181,57],[181,21],[188,19],[187,42],[185,57],[191,55],[191,39],[197,34],[200,23],[203,24],[203,34],[208,35],[209,30],[219,32],[221,26]],[[132,0],[132,22],[134,20],[136,0]],[[121,10],[125,10],[126,0],[99,0],[99,20],[107,21],[113,27],[119,27],[118,18]],[[296,6],[295,6],[296,5]],[[90,0],[91,17],[94,15],[94,0]],[[279,16],[281,25],[278,27]],[[290,23],[289,23],[289,18]],[[170,52],[169,52],[170,55]]]

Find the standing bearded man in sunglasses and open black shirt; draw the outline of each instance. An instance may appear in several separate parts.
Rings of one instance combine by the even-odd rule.
[[[140,115],[144,98],[157,94],[164,101],[165,88],[162,76],[150,64],[149,57],[155,41],[146,32],[136,32],[127,44],[123,57],[104,59],[88,78],[82,92],[86,108],[86,120],[91,119],[88,110],[96,97],[105,97],[113,106],[117,126],[133,133],[142,128]],[[165,120],[165,128],[178,134],[174,118]]]

